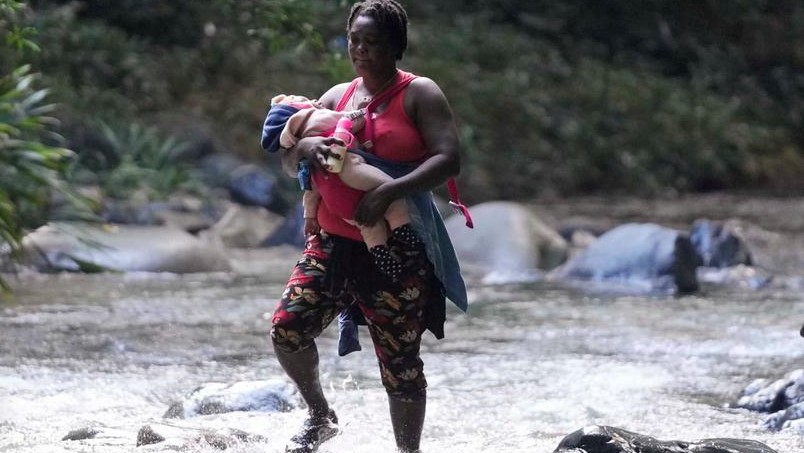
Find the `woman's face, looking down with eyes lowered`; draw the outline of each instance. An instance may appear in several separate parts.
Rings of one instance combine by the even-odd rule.
[[[349,29],[349,57],[358,75],[386,72],[396,66],[388,37],[370,16],[357,16]]]

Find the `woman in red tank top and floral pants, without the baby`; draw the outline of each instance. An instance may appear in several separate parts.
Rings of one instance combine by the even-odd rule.
[[[394,200],[429,194],[458,174],[459,143],[451,108],[438,85],[397,69],[407,47],[407,15],[399,3],[370,0],[355,4],[347,20],[347,33],[349,56],[358,78],[334,86],[319,100],[334,110],[368,105],[371,125],[357,136],[370,147],[367,157],[412,168],[355,195],[359,200],[355,221],[373,225],[382,220]],[[372,105],[374,100],[381,102]],[[314,172],[323,171],[333,143],[338,142],[331,137],[301,139],[283,151],[283,160],[295,164],[306,159]],[[439,275],[433,254],[428,258],[425,253],[433,245],[425,238],[428,232],[406,225],[391,232],[389,239],[390,252],[403,259],[404,270],[398,279],[388,279],[378,271],[357,227],[323,203],[318,222],[321,233],[308,238],[304,256],[294,267],[272,319],[276,356],[298,386],[309,412],[287,451],[315,451],[339,432],[337,417],[319,382],[318,351],[313,340],[338,314],[357,307],[374,343],[398,450],[416,452],[427,386],[419,357],[421,335],[429,329],[436,337],[443,337],[445,296],[466,308],[460,271],[457,265],[447,271],[452,271],[453,277],[458,273],[457,285],[449,283],[443,273]],[[451,253],[451,244],[446,246],[446,253]]]

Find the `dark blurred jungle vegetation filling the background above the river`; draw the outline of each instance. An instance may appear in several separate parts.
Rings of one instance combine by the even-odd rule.
[[[203,196],[213,151],[278,169],[269,99],[353,77],[350,4],[0,0],[0,242],[47,221],[54,191]],[[403,4],[401,67],[451,101],[468,204],[804,193],[804,3]]]

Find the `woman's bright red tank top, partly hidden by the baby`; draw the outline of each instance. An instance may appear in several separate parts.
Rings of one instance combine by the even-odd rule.
[[[389,91],[399,84],[410,83],[416,77],[405,71],[398,71],[398,73],[396,84],[390,87]],[[335,110],[344,109],[354,95],[360,80],[357,78],[352,81]],[[427,155],[424,139],[405,111],[406,92],[407,87],[399,90],[387,101],[387,107],[382,112],[369,113],[372,115],[370,127],[372,127],[371,132],[373,133],[367,133],[364,129],[357,134],[361,143],[366,142],[366,135],[372,135],[371,148],[366,151],[383,159],[397,162],[416,162]],[[369,108],[371,109],[371,106]],[[353,218],[355,207],[364,192],[352,189],[336,175],[324,172],[313,172],[313,181],[321,192],[329,191],[328,200],[322,198],[322,202],[318,206],[318,223],[321,228],[330,234],[362,241],[360,230],[343,219]],[[337,194],[337,196],[332,196],[333,194]]]

